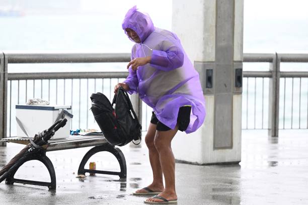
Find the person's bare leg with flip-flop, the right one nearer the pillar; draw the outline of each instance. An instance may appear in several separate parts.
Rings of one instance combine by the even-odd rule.
[[[176,135],[178,128],[169,131],[157,131],[155,136],[155,147],[159,153],[161,166],[165,177],[165,190],[159,194],[167,200],[176,200],[175,189],[175,158],[171,149],[171,141]],[[148,201],[162,201],[158,198],[148,198]]]

